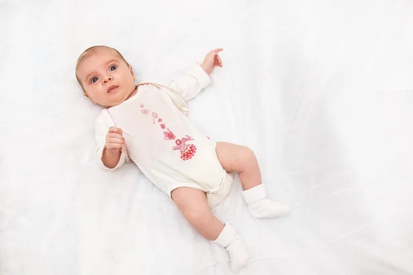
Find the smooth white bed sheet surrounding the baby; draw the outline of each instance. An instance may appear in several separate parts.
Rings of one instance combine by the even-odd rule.
[[[218,140],[253,148],[281,219],[240,188],[215,209],[243,234],[240,274],[413,274],[413,2],[0,1],[0,274],[232,274],[133,165],[94,162],[99,108],[76,58],[110,45],[138,80],[215,47],[191,101]]]

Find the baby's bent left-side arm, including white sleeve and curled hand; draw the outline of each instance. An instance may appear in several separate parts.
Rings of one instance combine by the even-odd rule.
[[[114,170],[125,163],[125,138],[110,116],[103,111],[95,121],[96,161],[106,170]]]

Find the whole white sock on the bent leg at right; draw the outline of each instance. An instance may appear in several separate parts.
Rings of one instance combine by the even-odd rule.
[[[266,199],[264,184],[245,190],[242,192],[242,195],[249,211],[256,218],[279,217],[290,211],[288,206]]]

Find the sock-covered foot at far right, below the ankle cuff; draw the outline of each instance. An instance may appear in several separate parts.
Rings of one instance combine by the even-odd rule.
[[[290,207],[282,203],[271,201],[270,199],[262,199],[255,203],[248,204],[250,213],[256,218],[273,218],[287,214]]]

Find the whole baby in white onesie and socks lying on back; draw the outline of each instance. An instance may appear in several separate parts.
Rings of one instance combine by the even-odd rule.
[[[76,78],[85,96],[105,107],[95,121],[97,161],[108,170],[134,162],[195,230],[229,252],[231,269],[238,272],[249,259],[245,241],[210,211],[228,195],[234,174],[254,217],[277,217],[288,206],[266,198],[250,148],[210,140],[187,118],[187,101],[211,83],[214,67],[222,67],[221,51],[212,50],[201,65],[167,83],[136,85],[131,65],[117,50],[95,46],[78,58]]]

